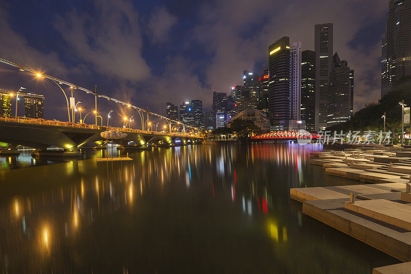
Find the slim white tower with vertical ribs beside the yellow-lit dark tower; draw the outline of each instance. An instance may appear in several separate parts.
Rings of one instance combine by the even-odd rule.
[[[290,45],[290,118],[301,120],[301,42]]]

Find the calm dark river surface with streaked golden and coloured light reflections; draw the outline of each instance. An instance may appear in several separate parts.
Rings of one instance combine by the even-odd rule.
[[[30,156],[2,159],[0,269],[371,273],[398,263],[290,200],[290,187],[358,184],[308,165],[318,150],[194,145],[136,152],[127,163],[17,169]]]

